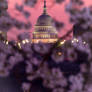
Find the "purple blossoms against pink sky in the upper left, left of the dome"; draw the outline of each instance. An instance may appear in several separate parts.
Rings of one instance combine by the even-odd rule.
[[[16,9],[22,11],[20,6],[16,5]],[[16,27],[17,29],[30,29],[31,23],[30,21],[22,22],[15,18],[13,18],[8,12],[8,1],[7,0],[0,0],[0,30],[2,31],[9,31],[11,28]],[[23,10],[23,15],[28,18],[30,13]]]

